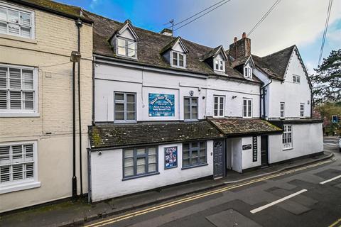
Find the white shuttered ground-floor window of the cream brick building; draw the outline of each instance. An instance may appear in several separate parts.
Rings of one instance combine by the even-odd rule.
[[[33,181],[36,170],[36,144],[0,145],[0,187]]]

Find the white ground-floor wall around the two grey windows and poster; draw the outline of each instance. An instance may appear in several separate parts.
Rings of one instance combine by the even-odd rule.
[[[164,148],[178,146],[178,167],[164,169]],[[91,153],[92,201],[100,201],[156,187],[185,182],[190,179],[213,175],[213,140],[207,140],[208,165],[181,170],[182,143],[158,145],[159,175],[139,177],[122,181],[122,150],[104,150],[102,155]]]

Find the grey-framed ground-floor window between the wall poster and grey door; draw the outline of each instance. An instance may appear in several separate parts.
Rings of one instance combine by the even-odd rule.
[[[192,167],[206,163],[206,141],[183,143],[183,167]]]

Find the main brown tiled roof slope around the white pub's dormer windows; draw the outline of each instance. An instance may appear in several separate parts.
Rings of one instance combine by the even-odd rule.
[[[105,57],[113,57],[116,59],[127,60],[126,58],[118,57],[114,54],[112,47],[109,44],[109,38],[112,34],[121,28],[122,23],[117,21],[98,16],[94,13],[86,11],[87,16],[94,21],[93,27],[93,48],[94,54],[102,55]],[[176,37],[162,35],[160,33],[155,33],[152,31],[147,31],[141,28],[134,27],[136,34],[139,35],[139,41],[137,43],[137,60],[130,60],[132,63],[138,63],[143,65],[150,65],[162,68],[171,68],[169,62],[161,55],[161,52],[172,45]],[[187,69],[175,69],[184,72],[194,72],[198,74],[216,74],[212,68],[204,62],[203,56],[214,50],[204,45],[190,42],[182,38],[183,44],[188,49],[187,53]],[[232,78],[247,80],[244,78],[243,74],[234,70],[229,64],[226,65],[226,73],[229,77],[230,74]],[[232,72],[232,73],[231,73]],[[221,74],[216,74],[220,76]],[[252,79],[253,82],[259,82],[257,79]]]

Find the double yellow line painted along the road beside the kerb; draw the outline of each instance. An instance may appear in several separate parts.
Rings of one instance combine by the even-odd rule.
[[[92,224],[87,225],[85,227],[97,227],[97,226],[109,225],[109,224],[112,224],[112,223],[116,223],[118,221],[123,221],[123,220],[128,219],[128,218],[133,218],[135,216],[140,216],[140,215],[143,215],[143,214],[147,214],[149,212],[158,211],[158,210],[170,207],[170,206],[175,206],[175,205],[178,205],[178,204],[183,204],[183,203],[188,202],[188,201],[193,201],[195,199],[200,199],[200,198],[203,198],[203,197],[206,197],[206,196],[210,196],[212,194],[217,194],[217,193],[220,193],[220,192],[225,192],[227,190],[235,189],[235,188],[238,188],[238,187],[243,187],[243,186],[248,185],[248,184],[254,184],[256,182],[261,182],[261,181],[264,181],[266,179],[271,179],[271,178],[274,178],[274,177],[280,177],[280,176],[283,176],[283,175],[291,174],[293,172],[297,172],[297,171],[301,171],[301,170],[306,170],[308,168],[316,167],[318,165],[323,165],[323,164],[328,163],[328,162],[332,162],[332,160],[326,160],[326,161],[323,161],[323,162],[318,162],[318,163],[315,163],[315,164],[312,164],[312,165],[307,165],[305,167],[300,167],[300,168],[293,169],[293,170],[287,170],[285,172],[280,172],[280,173],[277,173],[277,174],[274,174],[274,175],[269,175],[269,176],[266,176],[266,177],[261,177],[261,178],[253,179],[253,180],[250,180],[248,182],[244,182],[244,183],[240,183],[240,184],[235,184],[235,185],[228,186],[228,187],[223,187],[221,189],[215,189],[215,190],[212,190],[210,192],[205,192],[205,193],[202,193],[202,194],[197,194],[195,196],[186,197],[184,199],[178,199],[178,200],[175,200],[175,201],[168,202],[166,204],[160,204],[160,205],[157,205],[157,206],[150,207],[148,209],[143,209],[141,211],[135,211],[135,212],[132,212],[132,213],[129,213],[129,214],[124,214],[122,216],[117,216],[115,218],[109,218],[109,219],[107,219],[105,221],[99,221],[97,223],[92,223]]]

